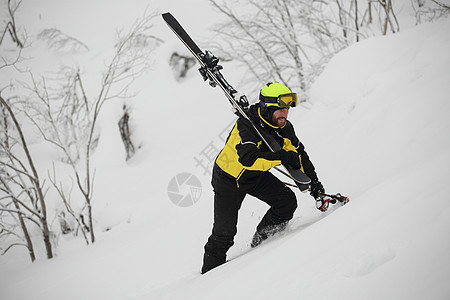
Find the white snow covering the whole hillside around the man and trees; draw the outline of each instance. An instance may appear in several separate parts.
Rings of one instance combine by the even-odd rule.
[[[54,26],[90,48],[62,55],[34,45],[30,65],[43,74],[62,61],[79,60],[94,78],[91,70],[103,66],[114,30],[153,5],[173,12],[202,48],[213,39],[205,24],[217,17],[198,24],[194,1],[153,1],[152,7],[147,1],[43,2],[22,3],[25,17],[18,21],[30,26],[31,35]],[[211,11],[207,1],[195,3]],[[210,143],[220,148],[234,117],[222,92],[203,83],[195,68],[185,80],[175,80],[169,57],[187,51],[155,19],[155,34],[165,43],[155,51],[152,70],[136,83],[140,93],[109,102],[101,116],[94,154],[96,243],[60,236],[57,256],[46,260],[40,250],[33,264],[15,248],[0,257],[0,297],[448,299],[449,30],[449,20],[424,24],[336,55],[317,79],[310,107],[291,110],[290,119],[327,191],[348,195],[350,203],[321,213],[308,194],[296,192],[299,207],[287,232],[249,251],[267,208],[248,197],[231,261],[200,275],[212,226],[212,189],[194,158]],[[239,89],[232,63],[224,67]],[[141,146],[128,162],[117,130],[124,103]],[[42,165],[54,155],[39,143],[33,150]],[[200,180],[202,193],[194,205],[178,207],[169,199],[168,184],[184,172]]]

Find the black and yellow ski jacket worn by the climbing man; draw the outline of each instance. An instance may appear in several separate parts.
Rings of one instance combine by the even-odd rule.
[[[295,135],[291,122],[287,120],[282,128],[273,126],[261,116],[258,104],[249,108],[248,116],[255,124],[261,125],[266,133],[272,135],[284,150],[297,152],[302,171],[311,180],[317,180],[314,166],[305,147]],[[271,152],[250,122],[240,117],[231,130],[225,147],[216,158],[213,183],[214,176],[220,176],[234,181],[237,188],[251,187],[258,182],[262,172],[280,164],[280,154]]]

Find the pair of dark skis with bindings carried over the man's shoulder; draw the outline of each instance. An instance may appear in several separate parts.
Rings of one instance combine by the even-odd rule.
[[[210,51],[206,50],[205,52],[203,52],[171,13],[164,13],[162,17],[169,28],[175,33],[175,35],[181,40],[181,42],[186,46],[186,48],[189,49],[192,55],[199,62],[201,66],[199,71],[202,74],[203,79],[205,81],[209,80],[209,84],[212,87],[219,86],[223,90],[225,96],[228,98],[228,101],[235,109],[236,114],[240,115],[250,122],[257,134],[260,136],[263,143],[267,145],[270,151],[276,152],[281,150],[281,146],[275,141],[275,139],[261,130],[245,113],[245,109],[248,107],[247,98],[245,97],[245,95],[238,96],[239,93],[222,76],[222,74],[220,73],[222,66],[218,64],[219,59],[212,55]],[[235,99],[235,97],[237,99]],[[286,166],[284,167],[286,169],[286,172],[280,170],[279,168],[276,168],[276,170],[290,177],[295,182],[296,187],[298,187],[300,191],[306,192],[309,188],[309,183],[311,182],[310,178],[301,170],[294,170]]]

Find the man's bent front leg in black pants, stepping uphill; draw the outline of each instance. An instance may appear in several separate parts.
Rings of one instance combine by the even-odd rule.
[[[297,209],[297,198],[290,188],[269,172],[265,173],[257,187],[249,194],[270,206],[256,228],[251,243],[252,247],[256,247],[286,228]]]

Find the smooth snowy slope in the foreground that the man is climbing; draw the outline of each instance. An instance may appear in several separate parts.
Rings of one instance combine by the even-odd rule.
[[[293,117],[325,186],[351,191],[349,205],[322,219],[299,195],[288,234],[141,299],[447,299],[449,30],[350,47]]]

